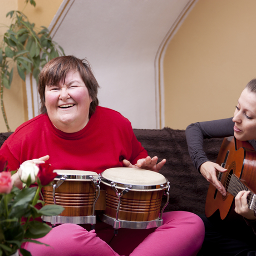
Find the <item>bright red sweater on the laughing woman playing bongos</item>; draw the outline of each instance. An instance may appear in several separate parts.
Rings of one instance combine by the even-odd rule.
[[[56,129],[47,115],[24,122],[0,149],[8,167],[16,170],[26,160],[49,155],[55,169],[101,173],[122,167],[122,160],[135,164],[147,152],[137,141],[130,121],[119,112],[97,106],[88,124],[68,134]]]

